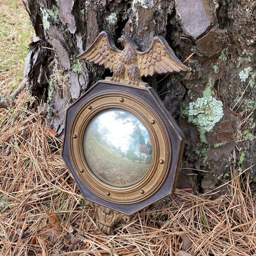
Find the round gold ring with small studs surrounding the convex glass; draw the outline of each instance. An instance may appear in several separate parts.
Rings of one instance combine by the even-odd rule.
[[[113,187],[97,178],[89,169],[83,153],[83,136],[87,124],[100,111],[119,108],[136,115],[148,129],[152,138],[153,159],[147,175],[138,183]],[[76,111],[69,131],[71,163],[79,179],[99,198],[116,204],[133,204],[149,198],[162,186],[172,163],[169,133],[159,113],[152,106],[133,93],[105,91],[91,96]]]

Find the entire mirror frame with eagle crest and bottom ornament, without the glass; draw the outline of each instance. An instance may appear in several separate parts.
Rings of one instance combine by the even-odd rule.
[[[160,36],[154,37],[145,52],[127,35],[122,35],[118,42],[123,45],[122,50],[116,48],[110,32],[102,31],[78,56],[110,69],[113,77],[98,81],[67,110],[62,151],[84,198],[89,200],[87,206],[93,207],[99,218],[99,229],[106,234],[112,234],[113,225],[121,219],[126,222],[129,215],[169,195],[177,183],[184,134],[157,93],[142,81],[142,76],[191,70]],[[96,177],[83,152],[84,132],[90,120],[101,111],[114,108],[129,111],[143,122],[153,151],[148,173],[125,187],[111,186]]]

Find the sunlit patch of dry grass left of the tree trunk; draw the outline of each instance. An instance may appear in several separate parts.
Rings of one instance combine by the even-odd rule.
[[[34,34],[22,0],[0,2],[0,93],[9,95],[23,80],[25,57]]]

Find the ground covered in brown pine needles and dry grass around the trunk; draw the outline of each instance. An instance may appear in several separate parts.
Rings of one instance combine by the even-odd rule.
[[[29,24],[20,2],[3,1],[0,10],[1,19],[11,14],[16,24],[23,13],[22,22]],[[6,33],[12,26],[4,28]],[[20,28],[24,33],[28,29]],[[10,84],[22,81],[26,54],[15,64],[8,60],[13,45],[4,38],[1,34],[1,60],[6,63],[1,63],[0,90],[8,95]],[[18,45],[21,40],[14,41]],[[210,194],[216,190],[207,195],[177,190],[128,224],[116,225],[114,236],[105,236],[61,160],[62,141],[47,125],[45,112],[31,108],[25,90],[15,103],[0,109],[0,255],[175,256],[180,250],[194,256],[256,255],[255,198],[247,186],[247,170],[235,165],[235,151],[226,195],[213,201]],[[250,115],[240,114],[243,122]],[[236,140],[240,137],[238,131]]]

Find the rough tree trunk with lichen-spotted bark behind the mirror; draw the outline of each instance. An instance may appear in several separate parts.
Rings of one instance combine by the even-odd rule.
[[[61,136],[67,107],[109,75],[77,59],[102,30],[115,41],[131,36],[141,50],[163,36],[183,61],[194,52],[186,62],[192,72],[144,80],[186,135],[178,186],[209,192],[228,179],[230,164],[245,169],[256,159],[255,6],[255,0],[27,0],[36,33],[24,70],[29,91],[46,104]],[[249,171],[253,187],[256,167]]]

